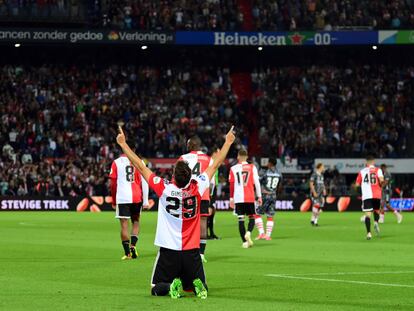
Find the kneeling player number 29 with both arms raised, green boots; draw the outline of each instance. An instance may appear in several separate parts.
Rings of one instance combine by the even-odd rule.
[[[147,168],[129,148],[122,128],[117,143],[159,197],[155,245],[160,247],[151,280],[155,296],[180,297],[181,290],[194,290],[207,298],[203,264],[200,257],[200,202],[215,171],[226,158],[235,140],[233,127],[211,166],[195,179],[184,161],[177,161],[173,181],[163,180]]]

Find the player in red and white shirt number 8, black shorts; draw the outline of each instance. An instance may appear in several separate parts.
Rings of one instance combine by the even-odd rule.
[[[122,260],[137,258],[136,244],[139,234],[139,217],[142,207],[148,206],[148,184],[134,168],[125,154],[112,162],[111,172],[112,205],[116,206],[116,218],[121,224],[121,241],[125,255]],[[131,244],[128,220],[131,219]]]

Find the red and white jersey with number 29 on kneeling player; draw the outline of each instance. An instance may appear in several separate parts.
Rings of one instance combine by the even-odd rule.
[[[191,179],[184,188],[152,174],[149,186],[159,197],[154,244],[172,250],[200,248],[200,202],[209,187],[207,174]]]

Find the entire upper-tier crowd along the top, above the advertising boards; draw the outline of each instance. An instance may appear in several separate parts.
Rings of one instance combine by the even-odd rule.
[[[140,30],[414,28],[413,0],[253,0],[243,9],[239,2],[0,0],[0,16],[83,17],[97,27]]]

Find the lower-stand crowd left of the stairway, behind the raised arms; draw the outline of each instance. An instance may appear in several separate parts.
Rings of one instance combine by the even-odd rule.
[[[238,122],[226,69],[42,66],[0,69],[1,194],[93,194],[118,148],[176,157],[197,133],[215,146]],[[241,142],[246,135],[239,131]],[[105,187],[104,187],[105,188]]]

